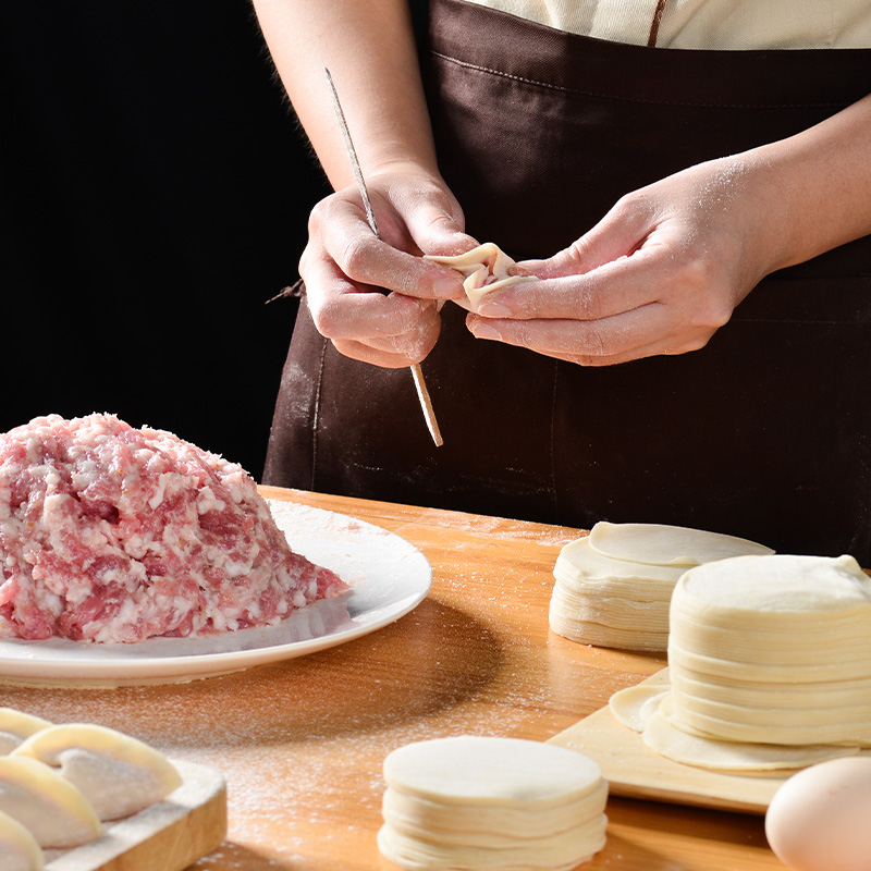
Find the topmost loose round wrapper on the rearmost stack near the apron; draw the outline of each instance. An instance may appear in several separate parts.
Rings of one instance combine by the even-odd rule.
[[[731,556],[774,553],[764,544],[702,529],[605,522],[590,530],[590,547],[604,556],[645,565],[692,566]]]

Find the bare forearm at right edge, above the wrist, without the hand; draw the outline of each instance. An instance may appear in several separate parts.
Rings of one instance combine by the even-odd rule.
[[[747,158],[774,269],[871,234],[871,96]]]

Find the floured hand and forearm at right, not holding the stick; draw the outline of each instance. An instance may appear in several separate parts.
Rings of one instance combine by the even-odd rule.
[[[766,274],[871,233],[871,98],[623,197],[469,315],[479,339],[584,366],[704,346]]]

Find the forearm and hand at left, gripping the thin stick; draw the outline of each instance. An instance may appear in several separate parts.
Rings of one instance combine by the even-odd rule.
[[[436,300],[463,294],[420,254],[475,247],[442,181],[407,0],[254,0],[296,115],[336,192],[315,207],[299,273],[317,328],[343,353],[387,367],[419,363],[439,334]],[[360,162],[369,228],[324,68]]]

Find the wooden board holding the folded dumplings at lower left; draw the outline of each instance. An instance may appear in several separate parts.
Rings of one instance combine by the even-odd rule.
[[[72,850],[47,850],[44,871],[182,871],[226,835],[226,787],[214,769],[173,760],[184,783],[165,800],[107,823]]]

